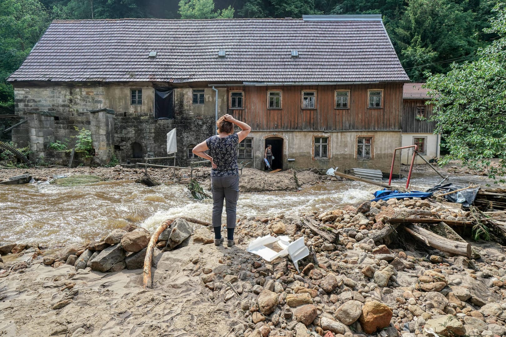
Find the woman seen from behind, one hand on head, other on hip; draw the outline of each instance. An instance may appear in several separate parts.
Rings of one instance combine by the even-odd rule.
[[[234,133],[234,125],[241,131]],[[223,201],[226,201],[227,246],[234,245],[236,206],[239,198],[239,170],[237,167],[237,145],[251,131],[251,127],[231,115],[224,115],[216,122],[218,134],[207,138],[193,148],[192,152],[211,162],[211,190],[213,192],[213,228],[215,245],[224,240],[221,235]],[[208,154],[204,151],[208,151]]]

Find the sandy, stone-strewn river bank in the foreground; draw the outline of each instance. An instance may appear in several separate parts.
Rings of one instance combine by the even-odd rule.
[[[474,251],[468,258],[424,248],[401,228],[385,241],[371,238],[389,218],[416,210],[449,220],[469,216],[427,201],[392,200],[242,217],[232,248],[210,244],[212,231],[196,226],[177,249],[155,250],[153,290],[143,290],[142,269],[101,272],[73,266],[74,254],[120,249],[115,246],[124,246],[121,242],[104,245],[102,237],[77,245],[73,254],[66,247],[52,252],[53,258],[42,252],[21,262],[38,253],[25,246],[31,253],[2,255],[7,271],[0,275],[0,331],[42,336],[506,334],[503,246],[465,236]],[[316,235],[306,219],[335,228],[337,242]],[[304,237],[314,259],[300,261],[297,272],[288,259],[269,263],[247,253],[251,240],[263,235]],[[118,262],[116,268],[127,264]]]

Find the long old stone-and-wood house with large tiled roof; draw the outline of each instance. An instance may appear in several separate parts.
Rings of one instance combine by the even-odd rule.
[[[74,126],[102,162],[163,157],[176,127],[187,165],[230,113],[252,127],[240,161],[271,144],[274,168],[343,170],[390,167],[409,81],[381,15],[55,20],[8,80],[35,157]]]

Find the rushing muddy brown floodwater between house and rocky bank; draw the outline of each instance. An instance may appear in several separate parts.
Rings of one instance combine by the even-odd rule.
[[[466,186],[467,179],[460,183]],[[418,177],[413,179],[413,186],[424,190],[439,180]],[[241,193],[237,216],[336,209],[372,199],[377,189],[381,188],[344,181],[322,183],[299,192]],[[83,243],[130,223],[152,229],[165,219],[183,215],[210,221],[211,209],[211,200],[192,200],[186,186],[177,184],[146,187],[131,181],[112,181],[77,187],[48,183],[0,185],[0,245]]]

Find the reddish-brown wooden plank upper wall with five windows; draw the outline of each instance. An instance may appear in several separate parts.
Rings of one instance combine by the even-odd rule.
[[[350,85],[229,86],[229,112],[253,130],[400,130],[403,83]],[[382,107],[368,108],[368,90],[383,90]],[[349,90],[348,108],[335,108],[335,91]],[[230,94],[243,92],[243,108],[230,108]],[[268,108],[268,92],[281,91],[281,108]],[[303,91],[316,93],[303,108]]]

